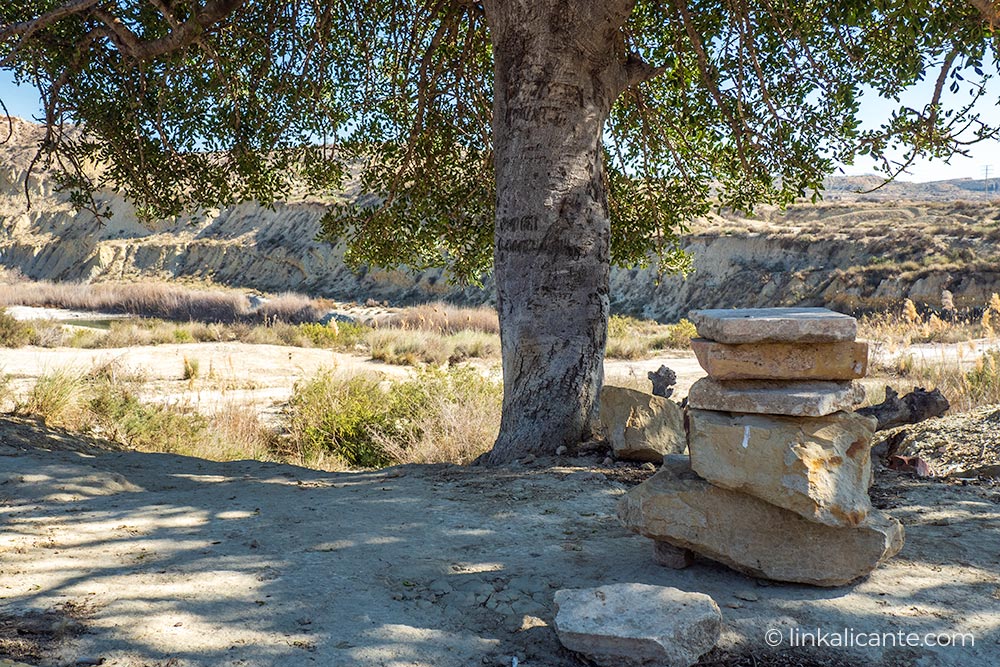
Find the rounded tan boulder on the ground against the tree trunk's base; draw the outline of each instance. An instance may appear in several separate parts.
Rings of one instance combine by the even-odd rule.
[[[601,423],[611,449],[626,461],[659,463],[687,446],[684,414],[668,398],[635,389],[601,390]]]

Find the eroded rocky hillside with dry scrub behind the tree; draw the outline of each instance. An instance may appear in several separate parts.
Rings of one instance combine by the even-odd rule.
[[[113,215],[98,221],[75,211],[42,171],[29,181],[29,210],[23,181],[40,129],[22,121],[14,128],[0,146],[0,265],[30,278],[192,278],[393,303],[491,299],[488,285],[456,288],[436,271],[348,269],[342,248],[314,241],[319,201],[243,204],[144,225],[126,202],[104,193]],[[894,183],[859,193],[877,184],[833,179],[822,204],[700,220],[685,241],[694,274],[658,282],[655,270],[615,270],[614,308],[668,321],[692,307],[859,310],[904,298],[935,306],[945,289],[957,306],[976,307],[1000,292],[1000,205],[981,181]]]

